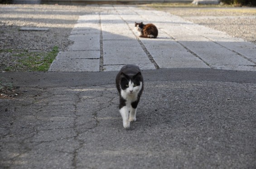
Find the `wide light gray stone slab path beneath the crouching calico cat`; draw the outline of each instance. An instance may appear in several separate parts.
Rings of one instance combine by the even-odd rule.
[[[49,71],[98,72],[125,64],[141,69],[214,68],[256,71],[256,45],[162,11],[101,5],[105,12],[83,15],[67,51]],[[157,39],[138,38],[134,22],[154,23]]]

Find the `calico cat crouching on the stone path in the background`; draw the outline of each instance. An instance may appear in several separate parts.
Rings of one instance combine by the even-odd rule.
[[[156,26],[152,23],[143,24],[135,22],[135,29],[140,32],[139,37],[146,37],[146,38],[156,38],[158,35],[158,30]]]

